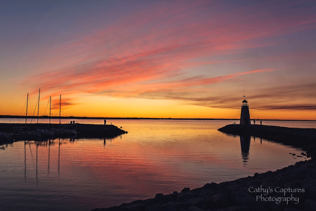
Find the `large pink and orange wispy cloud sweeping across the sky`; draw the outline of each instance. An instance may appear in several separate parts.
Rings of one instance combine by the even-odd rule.
[[[270,7],[270,4],[261,6]],[[42,73],[26,81],[32,81],[34,88],[63,92],[68,97],[83,92],[179,99],[195,105],[230,108],[228,101],[236,99],[228,96],[230,100],[223,100],[223,96],[210,93],[212,84],[242,80],[249,74],[260,79],[262,73],[272,76],[280,68],[273,64],[253,68],[254,61],[240,59],[238,55],[249,53],[249,49],[280,45],[272,38],[315,28],[316,21],[311,11],[302,17],[290,6],[282,14],[277,13],[277,8],[272,9],[273,16],[261,7],[258,9],[256,4],[227,11],[222,7],[207,2],[178,2],[167,7],[154,4],[146,10],[132,12],[115,24],[102,26],[51,49],[50,59],[40,67]],[[258,12],[254,13],[255,9]],[[234,69],[231,64],[235,63],[242,65]],[[210,69],[215,64],[230,66],[225,71]],[[195,71],[203,65],[209,70]],[[287,96],[281,91],[276,93]],[[252,96],[256,98],[255,94]],[[69,97],[66,102],[71,100]]]

